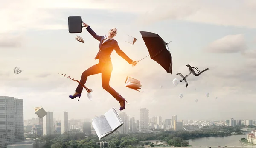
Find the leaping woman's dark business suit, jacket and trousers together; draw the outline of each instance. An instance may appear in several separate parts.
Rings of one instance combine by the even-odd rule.
[[[93,65],[82,73],[80,83],[85,84],[87,77],[90,75],[95,75],[102,73],[102,87],[107,92],[109,92],[117,101],[122,102],[124,98],[119,95],[112,87],[109,86],[109,81],[111,73],[113,70],[112,62],[110,55],[113,52],[113,49],[116,50],[116,53],[125,59],[129,64],[132,63],[132,60],[119,48],[118,43],[115,39],[108,39],[104,43],[105,36],[97,35],[91,28],[88,26],[86,30],[95,38],[99,43],[99,52],[97,53],[95,59],[99,59],[99,63]],[[102,44],[103,43],[103,44]],[[77,93],[82,93],[83,86],[79,84],[76,88]]]

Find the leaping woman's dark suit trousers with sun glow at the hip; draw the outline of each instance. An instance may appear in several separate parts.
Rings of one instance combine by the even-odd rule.
[[[99,62],[96,65],[93,65],[92,67],[88,68],[82,73],[80,83],[78,84],[76,88],[76,92],[81,94],[83,91],[83,85],[85,85],[87,81],[87,77],[90,75],[95,75],[98,73],[102,73],[102,87],[105,89],[108,93],[110,93],[118,102],[122,102],[124,98],[119,95],[112,87],[109,85],[111,73],[113,70],[112,63],[101,63]]]

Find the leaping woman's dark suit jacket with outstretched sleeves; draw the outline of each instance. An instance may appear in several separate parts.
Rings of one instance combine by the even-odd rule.
[[[99,52],[97,53],[95,59],[99,59],[99,62],[108,63],[111,62],[110,55],[113,52],[113,50],[116,50],[116,53],[121,56],[123,59],[125,59],[129,64],[132,63],[132,60],[120,49],[118,46],[118,42],[115,39],[108,39],[103,44],[103,40],[105,36],[99,36],[97,35],[90,26],[86,28],[86,30],[95,38],[97,39],[99,43]]]

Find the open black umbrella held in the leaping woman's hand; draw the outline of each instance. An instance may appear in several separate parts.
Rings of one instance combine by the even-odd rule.
[[[140,31],[140,34],[148,48],[150,58],[160,64],[167,73],[172,74],[172,56],[166,48],[170,42],[164,42],[158,34],[152,32]]]

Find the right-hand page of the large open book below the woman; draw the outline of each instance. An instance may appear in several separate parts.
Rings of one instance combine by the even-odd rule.
[[[113,108],[111,108],[104,115],[105,115],[105,118],[108,121],[108,124],[111,127],[112,131],[115,130],[118,126],[120,126],[122,124],[122,122],[119,121],[119,118],[117,117]]]

